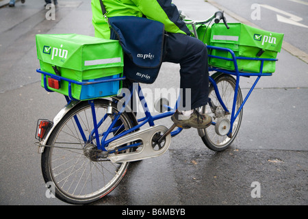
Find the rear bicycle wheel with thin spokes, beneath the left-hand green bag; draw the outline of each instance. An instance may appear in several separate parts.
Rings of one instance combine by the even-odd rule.
[[[97,118],[105,114],[108,103],[105,99],[94,100]],[[115,103],[112,103],[112,112],[118,113]],[[116,188],[127,172],[129,162],[113,164],[107,158],[94,159],[90,153],[96,147],[96,140],[84,143],[77,131],[74,116],[79,119],[86,136],[90,134],[93,125],[91,107],[88,101],[81,101],[52,131],[47,141],[49,146],[45,147],[41,157],[42,175],[45,183],[53,183],[55,196],[60,200],[70,204],[88,204],[103,198]],[[121,114],[119,119],[125,128],[123,130],[133,127],[127,113]],[[112,116],[107,116],[103,124],[111,122]],[[107,127],[109,125],[100,129]],[[99,133],[103,133],[104,130],[100,129]],[[114,136],[116,134],[118,133],[112,133]],[[69,146],[72,149],[53,146]]]

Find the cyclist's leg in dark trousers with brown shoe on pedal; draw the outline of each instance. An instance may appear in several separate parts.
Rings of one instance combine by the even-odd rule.
[[[172,121],[183,128],[208,127],[211,118],[207,115],[201,115],[196,110],[196,108],[207,104],[209,92],[209,72],[205,44],[184,34],[169,34],[164,62],[179,63],[181,66],[180,88],[183,93],[178,105],[180,112],[176,112],[172,116]],[[190,89],[190,92],[188,92],[188,89]],[[186,111],[186,115],[182,115],[181,112],[183,111]]]

